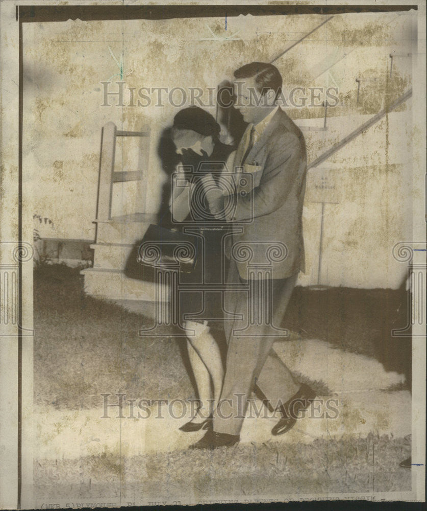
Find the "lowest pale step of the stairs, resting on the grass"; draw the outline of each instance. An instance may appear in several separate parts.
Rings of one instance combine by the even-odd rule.
[[[86,268],[81,274],[85,278],[85,292],[96,298],[156,301],[153,281],[138,281],[128,278],[121,270],[106,268]],[[159,301],[167,302],[169,289],[163,285],[158,291],[161,294]]]

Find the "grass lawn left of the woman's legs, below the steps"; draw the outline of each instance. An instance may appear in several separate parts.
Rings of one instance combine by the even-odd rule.
[[[139,337],[142,316],[82,289],[77,269],[54,265],[35,272],[37,406],[92,408],[102,405],[103,392],[194,397],[180,354],[184,340]]]

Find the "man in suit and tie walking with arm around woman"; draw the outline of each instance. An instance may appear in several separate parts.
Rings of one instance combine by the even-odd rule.
[[[237,69],[234,77],[235,107],[248,123],[234,166],[253,174],[254,189],[244,196],[236,194],[237,206],[230,220],[243,226],[243,232],[233,236],[228,272],[230,292],[225,293],[224,308],[237,317],[239,314],[245,317],[248,298],[244,293],[232,292],[232,286],[249,285],[254,289],[262,285],[266,289],[271,285],[270,316],[272,324],[279,327],[298,272],[305,269],[302,214],[306,145],[303,133],[277,105],[282,77],[275,66],[252,62]],[[211,211],[221,211],[218,201],[215,204],[215,200],[208,200]],[[244,248],[242,245],[250,247],[252,265],[266,262],[272,265],[269,283],[259,282],[260,278],[266,278],[265,274],[250,274],[247,262],[236,257],[237,248]],[[269,247],[276,247],[274,250],[279,247],[279,252],[283,249],[285,253],[272,257]],[[271,336],[271,324],[265,316],[252,336],[239,335],[236,327],[241,328],[241,324],[241,321],[224,323],[228,354],[220,402],[214,413],[213,428],[192,448],[215,449],[237,443],[247,399],[256,387],[267,398],[269,407],[279,408],[282,414],[272,429],[274,435],[291,429],[298,413],[308,408],[315,397],[310,387],[293,380],[289,369],[272,352],[278,336]]]

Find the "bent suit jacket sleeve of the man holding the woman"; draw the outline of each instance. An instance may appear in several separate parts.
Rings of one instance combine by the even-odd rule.
[[[234,221],[268,215],[286,201],[295,181],[302,181],[303,153],[298,137],[292,132],[279,132],[271,137],[260,184],[252,197],[238,196]]]

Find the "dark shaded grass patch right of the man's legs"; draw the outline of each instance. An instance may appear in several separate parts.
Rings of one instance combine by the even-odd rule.
[[[400,289],[296,287],[284,324],[300,338],[328,341],[379,360],[411,381],[411,338],[393,337],[408,324],[408,292]],[[410,388],[410,387],[409,387]]]

